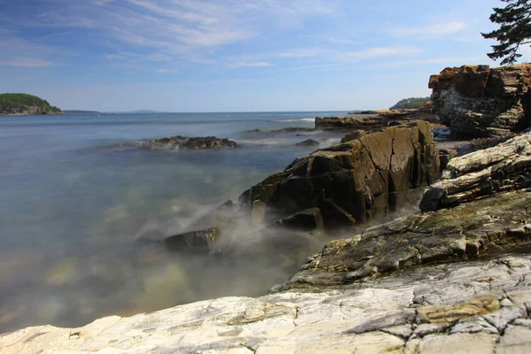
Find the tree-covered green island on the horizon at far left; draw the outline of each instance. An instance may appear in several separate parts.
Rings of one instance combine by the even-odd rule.
[[[63,114],[40,97],[27,94],[0,94],[0,115]]]

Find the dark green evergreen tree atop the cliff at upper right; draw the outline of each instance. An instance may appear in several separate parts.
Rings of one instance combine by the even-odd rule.
[[[496,60],[504,58],[502,65],[514,64],[522,55],[519,54],[520,45],[531,41],[531,1],[530,0],[501,0],[507,3],[504,8],[495,7],[490,15],[490,21],[500,27],[489,33],[481,33],[484,38],[495,39],[498,44],[492,46],[489,58]]]

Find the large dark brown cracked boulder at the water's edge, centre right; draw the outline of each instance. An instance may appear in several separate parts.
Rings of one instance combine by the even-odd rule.
[[[240,202],[253,213],[260,202],[266,222],[317,207],[325,227],[351,227],[416,203],[439,174],[430,126],[418,121],[297,158],[245,191]]]

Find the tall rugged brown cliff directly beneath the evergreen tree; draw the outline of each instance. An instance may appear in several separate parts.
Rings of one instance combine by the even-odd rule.
[[[531,124],[531,65],[448,67],[432,75],[433,111],[454,137],[506,135]]]

